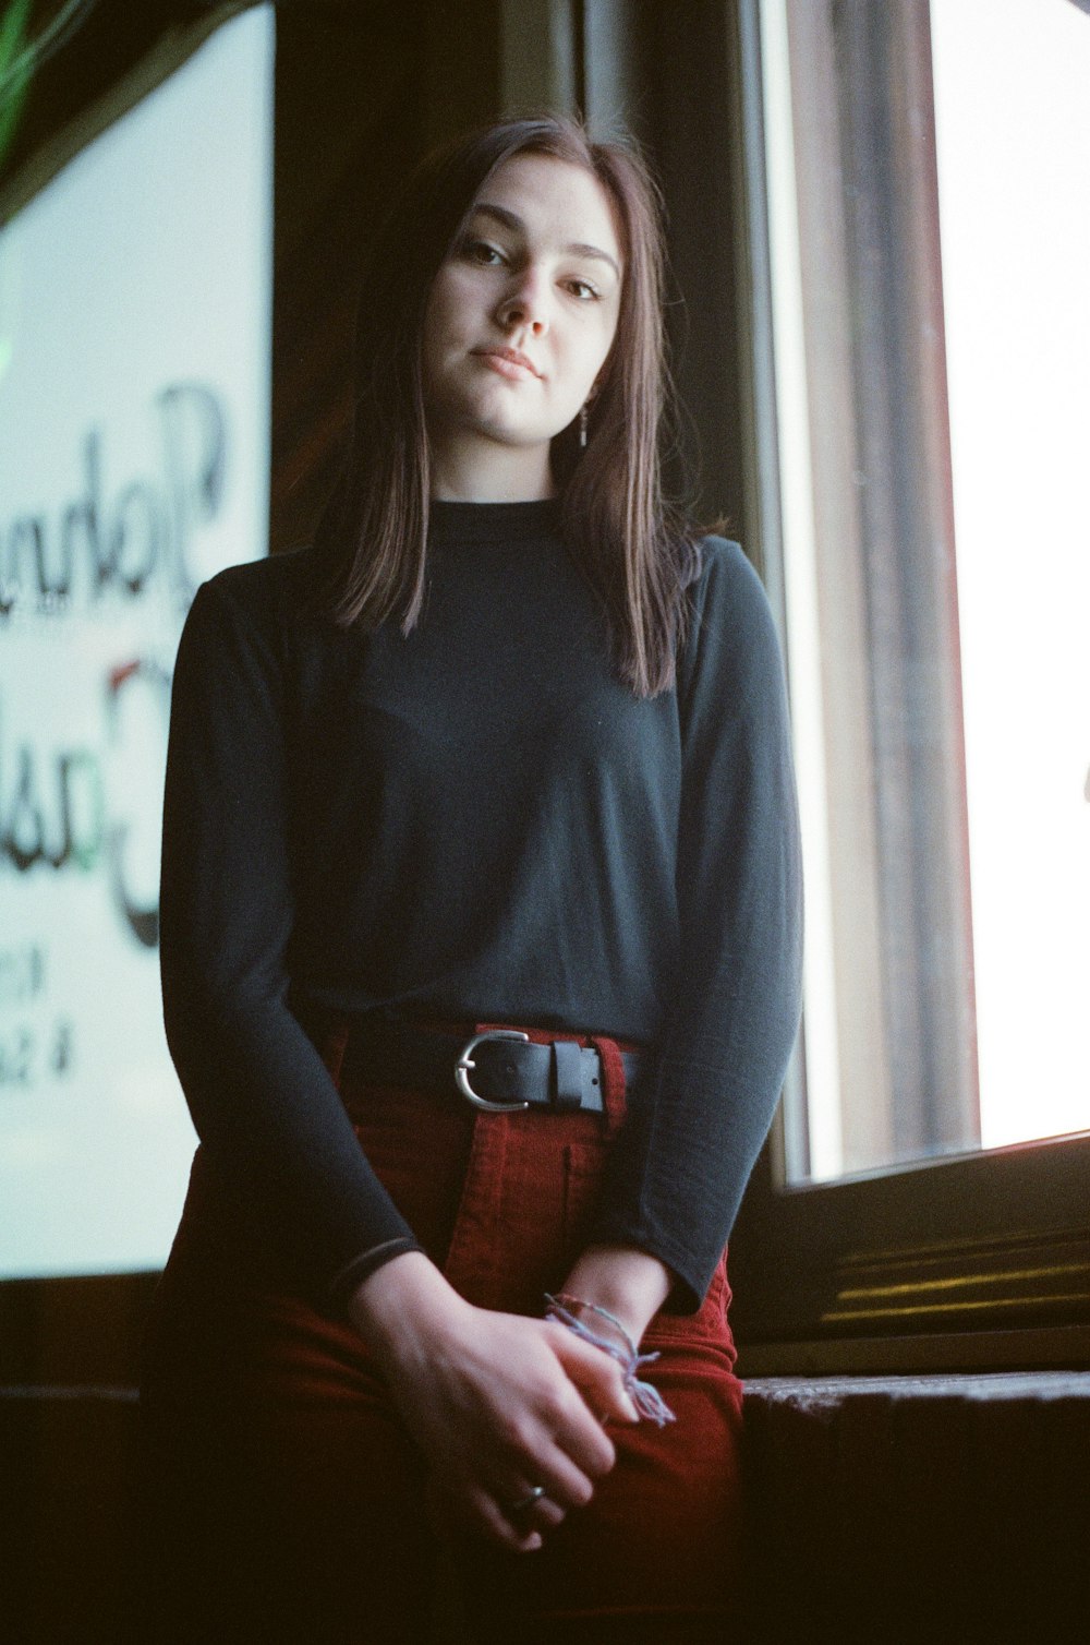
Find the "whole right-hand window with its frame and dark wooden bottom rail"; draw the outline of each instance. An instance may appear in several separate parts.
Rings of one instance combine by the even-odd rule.
[[[1064,1360],[1090,1318],[1090,18],[763,0],[740,23],[809,924],[740,1334]]]

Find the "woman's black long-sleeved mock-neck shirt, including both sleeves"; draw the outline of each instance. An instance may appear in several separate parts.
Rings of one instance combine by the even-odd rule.
[[[174,673],[164,1018],[220,1173],[316,1291],[411,1249],[289,1007],[644,1043],[595,1242],[704,1295],[797,1025],[783,670],[741,551],[704,543],[677,689],[638,699],[557,505],[432,503],[424,614],[304,614],[307,553],[206,582]],[[450,1101],[459,1101],[452,1092]]]

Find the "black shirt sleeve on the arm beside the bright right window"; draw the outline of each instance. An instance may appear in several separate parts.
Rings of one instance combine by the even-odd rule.
[[[592,1239],[667,1263],[700,1304],[768,1135],[801,1010],[802,873],[787,702],[761,582],[710,538],[679,661],[681,946],[654,1074]]]

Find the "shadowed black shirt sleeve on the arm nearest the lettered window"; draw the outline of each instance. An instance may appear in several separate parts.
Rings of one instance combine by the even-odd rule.
[[[258,587],[237,572],[202,584],[178,650],[163,809],[163,1017],[215,1173],[288,1247],[311,1293],[330,1303],[418,1245],[288,1005],[288,693],[268,584],[255,600]]]

